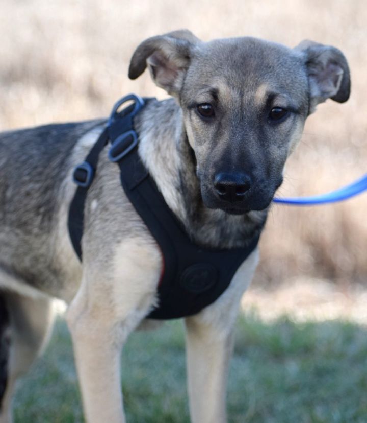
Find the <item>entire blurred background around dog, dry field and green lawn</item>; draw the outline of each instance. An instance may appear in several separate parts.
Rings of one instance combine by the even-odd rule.
[[[309,117],[279,195],[324,193],[367,172],[364,0],[1,0],[0,7],[0,130],[107,116],[129,92],[164,98],[148,74],[127,78],[134,49],[152,35],[188,28],[203,40],[250,35],[291,47],[308,38],[344,52],[352,95]],[[367,195],[272,207],[237,327],[231,423],[366,421],[366,209]],[[122,378],[129,422],[188,423],[184,347],[180,322],[131,337]],[[61,321],[16,395],[15,421],[83,421]]]

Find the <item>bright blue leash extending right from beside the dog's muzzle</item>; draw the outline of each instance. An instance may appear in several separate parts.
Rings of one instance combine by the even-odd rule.
[[[287,205],[306,206],[344,201],[367,190],[367,173],[350,185],[339,188],[327,194],[314,195],[311,197],[273,198],[273,202]]]

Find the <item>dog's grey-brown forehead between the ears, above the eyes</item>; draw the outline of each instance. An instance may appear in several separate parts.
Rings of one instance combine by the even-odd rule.
[[[282,89],[302,97],[307,78],[299,52],[270,41],[242,37],[198,44],[186,85],[193,91],[208,85],[219,92],[256,93],[257,99],[268,91]]]

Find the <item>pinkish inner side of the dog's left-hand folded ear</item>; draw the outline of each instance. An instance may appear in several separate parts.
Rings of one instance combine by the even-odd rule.
[[[147,63],[156,84],[166,89],[173,87],[179,70],[173,58],[167,58],[162,52],[154,52],[148,57]]]

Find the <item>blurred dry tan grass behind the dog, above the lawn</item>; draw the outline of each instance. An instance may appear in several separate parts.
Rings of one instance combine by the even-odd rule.
[[[130,91],[163,97],[147,75],[126,76],[135,46],[151,35],[189,28],[204,40],[252,35],[290,46],[309,38],[346,54],[352,96],[309,118],[281,194],[324,192],[366,172],[364,0],[3,0],[1,9],[1,129],[106,115]],[[318,208],[274,206],[257,281],[367,280],[366,206],[366,195]]]

